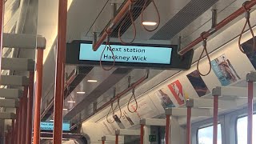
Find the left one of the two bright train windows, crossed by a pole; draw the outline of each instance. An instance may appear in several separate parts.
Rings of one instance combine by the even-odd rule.
[[[204,127],[198,130],[198,144],[213,143],[214,126]],[[222,144],[222,126],[218,124],[218,144]]]

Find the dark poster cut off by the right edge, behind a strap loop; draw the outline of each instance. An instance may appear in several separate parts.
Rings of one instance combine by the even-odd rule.
[[[254,66],[254,69],[256,69],[256,51],[254,51],[254,53],[249,53],[250,50],[253,50],[253,47],[253,38],[250,38],[250,40],[242,43],[242,49],[247,53],[247,58],[249,58],[250,63]]]

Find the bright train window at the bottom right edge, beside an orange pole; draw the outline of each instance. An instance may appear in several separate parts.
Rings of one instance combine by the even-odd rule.
[[[254,114],[253,130],[256,129],[256,114]],[[238,118],[237,121],[237,140],[238,144],[247,143],[247,117]],[[254,131],[255,133],[255,131]],[[253,137],[253,143],[256,143],[256,138]]]

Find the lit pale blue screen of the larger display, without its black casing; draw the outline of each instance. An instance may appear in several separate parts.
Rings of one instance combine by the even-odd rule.
[[[81,43],[79,60],[100,61],[102,50],[105,45],[98,48],[97,51],[92,50],[92,44]],[[111,48],[110,48],[111,47]],[[170,64],[172,48],[169,47],[152,47],[152,46],[107,46],[102,55],[103,62],[131,62],[131,63],[156,63]],[[111,53],[114,52],[114,56]],[[158,57],[158,55],[161,55]]]

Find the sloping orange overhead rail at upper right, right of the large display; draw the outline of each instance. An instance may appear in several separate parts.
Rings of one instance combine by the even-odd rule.
[[[251,0],[246,3],[246,9],[250,9],[256,5],[256,0]],[[230,14],[227,18],[223,19],[222,22],[219,22],[214,28],[206,31],[206,33],[202,34],[199,38],[195,39],[193,42],[191,42],[186,47],[182,48],[182,50],[179,51],[179,54],[183,55],[186,54],[189,50],[192,50],[194,46],[196,46],[199,42],[202,42],[204,38],[208,38],[210,35],[214,34],[216,31],[220,30],[222,27],[226,26],[226,24],[233,21],[235,18],[238,18],[239,15],[244,14],[246,12],[245,8],[242,6],[240,9],[236,10],[233,14]]]

